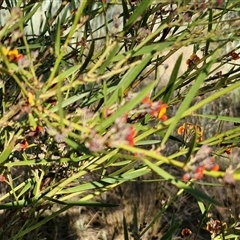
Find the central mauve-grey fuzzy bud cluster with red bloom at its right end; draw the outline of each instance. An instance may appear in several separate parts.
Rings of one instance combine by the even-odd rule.
[[[107,134],[101,136],[92,131],[85,142],[85,146],[92,152],[100,152],[105,147],[117,147],[119,144],[134,146],[136,130],[133,125],[127,124],[127,115],[116,119]]]

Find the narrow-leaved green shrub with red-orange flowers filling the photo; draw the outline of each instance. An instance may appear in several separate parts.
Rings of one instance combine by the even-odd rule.
[[[94,2],[72,1],[71,14],[63,2],[46,13],[39,34],[29,36],[25,26],[43,3],[5,1],[0,207],[8,211],[1,238],[32,238],[73,206],[115,207],[98,196],[154,172],[155,181],[178,191],[140,229],[134,210],[134,239],[183,192],[198,201],[198,227],[181,229],[173,218],[161,239],[201,236],[200,228],[204,239],[237,239],[237,219],[227,226],[210,217],[211,206],[222,203],[198,186],[215,178],[234,188],[240,179],[236,161],[224,166],[239,146],[239,116],[211,110],[218,99],[227,113],[239,104],[238,47],[227,48],[239,38],[239,17],[228,18],[238,1]],[[122,12],[114,12],[117,5]],[[168,71],[161,66],[185,46],[192,54],[186,63],[179,54],[159,86]],[[206,119],[212,119],[209,131]],[[125,239],[127,224],[124,218]]]

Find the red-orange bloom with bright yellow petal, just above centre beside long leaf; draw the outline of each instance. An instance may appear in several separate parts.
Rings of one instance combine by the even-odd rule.
[[[154,118],[162,121],[167,120],[167,104],[163,104],[162,101],[152,101],[150,97],[147,96],[142,100],[141,109]]]

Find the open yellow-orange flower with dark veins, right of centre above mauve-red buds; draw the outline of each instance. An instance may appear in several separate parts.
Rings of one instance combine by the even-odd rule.
[[[190,142],[195,134],[197,135],[197,142],[203,140],[203,129],[198,124],[184,123],[178,128],[177,133],[183,136],[185,142]]]

